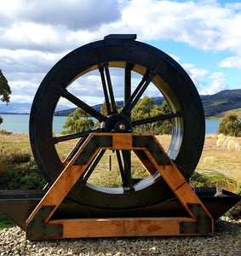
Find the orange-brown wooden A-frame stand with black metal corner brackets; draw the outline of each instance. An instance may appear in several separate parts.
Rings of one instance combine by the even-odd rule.
[[[133,150],[148,172],[158,170],[190,217],[51,219],[100,149]],[[26,220],[26,238],[192,236],[213,234],[214,220],[152,135],[93,133]]]

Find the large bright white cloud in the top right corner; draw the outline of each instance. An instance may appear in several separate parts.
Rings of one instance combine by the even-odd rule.
[[[236,52],[241,46],[240,21],[241,14],[232,4],[224,8],[216,1],[132,0],[118,25],[137,32],[140,38],[172,38],[199,49]]]

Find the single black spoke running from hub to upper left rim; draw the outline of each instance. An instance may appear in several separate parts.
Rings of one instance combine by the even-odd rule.
[[[103,122],[107,119],[105,115],[99,113],[94,108],[90,107],[88,104],[78,99],[77,96],[72,95],[72,93],[70,93],[68,90],[63,90],[61,96],[65,97],[67,100],[75,104],[78,108],[82,108],[84,111],[89,113],[89,115],[99,120],[100,122]]]

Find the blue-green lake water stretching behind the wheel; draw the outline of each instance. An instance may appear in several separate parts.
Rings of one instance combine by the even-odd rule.
[[[1,114],[3,124],[0,125],[0,130],[11,131],[14,133],[28,133],[28,114]],[[60,134],[63,131],[63,125],[66,123],[66,116],[55,116],[53,131],[55,134]],[[206,120],[206,134],[216,133],[221,120]]]

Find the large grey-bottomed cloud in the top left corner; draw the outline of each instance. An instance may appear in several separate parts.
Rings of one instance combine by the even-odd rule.
[[[69,30],[96,30],[102,24],[121,16],[118,1],[96,0],[15,0],[3,3],[0,15],[11,23],[34,22],[41,25],[65,26]],[[3,21],[3,20],[2,20]]]

